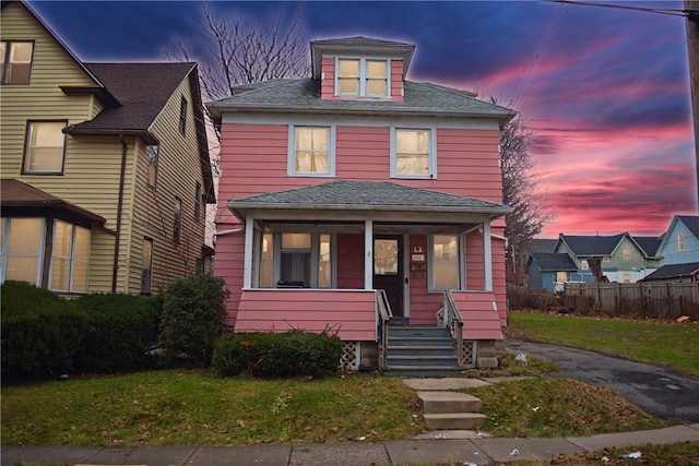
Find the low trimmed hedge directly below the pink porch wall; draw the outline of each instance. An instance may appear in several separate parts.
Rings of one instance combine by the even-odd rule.
[[[328,332],[236,333],[218,339],[213,367],[221,375],[323,377],[337,371],[341,356],[342,340]]]

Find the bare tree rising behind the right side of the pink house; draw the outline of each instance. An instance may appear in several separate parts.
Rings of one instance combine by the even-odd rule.
[[[490,98],[497,104],[495,98]],[[546,196],[536,191],[534,160],[530,154],[532,131],[518,115],[503,128],[500,135],[500,165],[502,167],[502,203],[512,207],[505,217],[508,238],[507,266],[510,280],[521,277],[517,252],[522,244],[541,232],[552,215],[546,210]]]

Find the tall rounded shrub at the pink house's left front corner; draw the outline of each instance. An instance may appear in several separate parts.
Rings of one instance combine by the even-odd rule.
[[[212,275],[180,278],[163,292],[161,347],[170,356],[186,355],[197,366],[211,365],[214,343],[226,327],[224,282]]]

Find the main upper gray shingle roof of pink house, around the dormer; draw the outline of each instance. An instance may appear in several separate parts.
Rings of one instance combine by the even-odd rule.
[[[404,101],[393,103],[382,99],[321,99],[320,81],[310,77],[274,80],[238,87],[239,94],[211,101],[206,106],[215,118],[220,118],[224,110],[486,117],[500,122],[516,115],[508,108],[478,100],[467,92],[429,83],[405,81],[404,84]]]

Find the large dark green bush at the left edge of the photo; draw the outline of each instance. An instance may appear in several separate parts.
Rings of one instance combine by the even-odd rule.
[[[3,375],[46,378],[69,371],[87,328],[85,312],[26,283],[5,282],[0,294]]]

